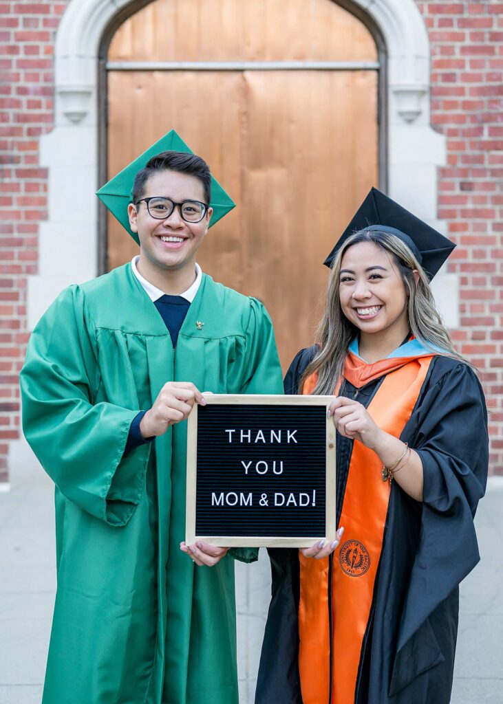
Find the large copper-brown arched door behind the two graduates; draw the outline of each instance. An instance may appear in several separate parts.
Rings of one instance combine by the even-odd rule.
[[[378,185],[377,69],[331,0],[156,0],[108,51],[108,177],[172,127],[203,156],[237,208],[198,261],[265,303],[284,369],[313,341],[325,256]],[[136,251],[110,218],[108,268]]]

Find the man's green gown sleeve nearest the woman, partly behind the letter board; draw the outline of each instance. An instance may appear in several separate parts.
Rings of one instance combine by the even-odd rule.
[[[256,298],[250,298],[250,305],[246,332],[247,373],[240,393],[282,394],[282,372],[273,323],[266,308]],[[259,548],[232,548],[229,554],[241,562],[254,562],[259,557]]]

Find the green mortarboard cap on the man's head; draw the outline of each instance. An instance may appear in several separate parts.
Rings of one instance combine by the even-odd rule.
[[[97,191],[98,198],[103,201],[108,210],[112,213],[114,218],[120,222],[120,225],[129,232],[131,237],[139,244],[138,235],[136,232],[132,232],[129,226],[128,218],[128,205],[131,203],[131,190],[132,184],[135,181],[135,176],[140,169],[144,168],[144,165],[156,154],[161,151],[183,151],[185,153],[193,154],[194,152],[190,149],[187,144],[179,137],[175,130],[170,130],[168,134],[161,137],[158,142],[152,144],[152,146],[144,151],[140,156],[138,156],[134,161],[132,161],[126,168],[120,171],[116,176],[113,177],[108,183],[102,186],[99,191]],[[223,218],[224,215],[235,208],[235,203],[230,199],[228,194],[225,193],[221,185],[216,179],[211,177],[211,207],[213,208],[213,215],[211,215],[211,220],[209,226],[215,225],[218,220]]]

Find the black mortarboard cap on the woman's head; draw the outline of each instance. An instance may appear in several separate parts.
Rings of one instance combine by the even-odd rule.
[[[342,244],[359,230],[380,230],[395,234],[414,253],[430,281],[456,246],[443,234],[426,225],[426,222],[409,213],[409,210],[402,208],[378,189],[371,188],[323,263],[331,267]]]

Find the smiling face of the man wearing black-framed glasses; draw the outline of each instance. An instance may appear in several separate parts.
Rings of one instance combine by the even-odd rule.
[[[176,203],[206,202],[201,181],[178,171],[158,171],[149,177],[142,197],[157,196],[169,198]],[[154,270],[157,275],[165,275],[170,271],[194,271],[197,250],[208,232],[211,208],[201,222],[185,222],[178,207],[173,209],[166,220],[156,220],[149,215],[145,201],[137,206],[130,204],[128,213],[131,230],[137,232],[139,237],[143,270]]]

